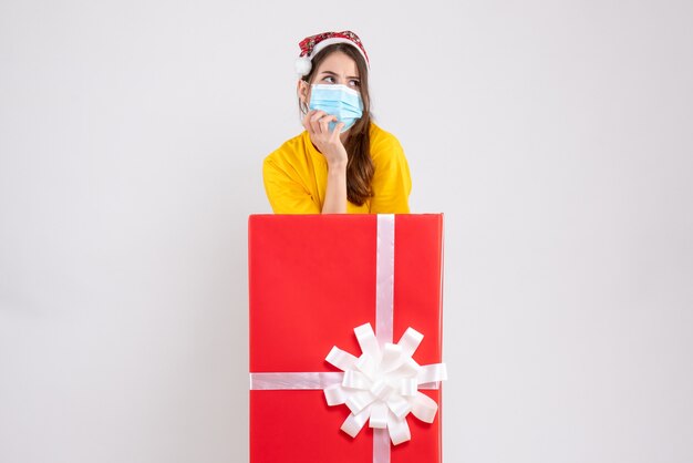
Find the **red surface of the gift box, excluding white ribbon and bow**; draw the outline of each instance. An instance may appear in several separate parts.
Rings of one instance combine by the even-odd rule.
[[[381,330],[375,306],[382,217],[250,216],[251,378],[339,372],[325,361],[332,347],[359,357],[354,327],[371,323]],[[413,359],[421,366],[441,363],[443,216],[389,218],[394,219],[392,336],[396,341],[414,328],[424,338]],[[439,389],[423,392],[441,403]],[[371,463],[374,434],[381,442],[383,434],[366,423],[355,438],[348,435],[340,428],[349,415],[344,405],[329,407],[322,390],[251,389],[250,462]],[[411,440],[390,445],[390,461],[441,462],[439,410],[432,423],[412,414],[406,422]]]

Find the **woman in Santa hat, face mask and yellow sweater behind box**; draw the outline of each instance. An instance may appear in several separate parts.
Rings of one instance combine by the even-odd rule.
[[[265,158],[276,214],[405,214],[412,189],[400,142],[371,121],[369,59],[351,31],[299,43],[306,131]]]

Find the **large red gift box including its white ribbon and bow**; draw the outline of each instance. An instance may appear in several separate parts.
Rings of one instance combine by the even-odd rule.
[[[248,225],[250,462],[441,462],[443,216]]]

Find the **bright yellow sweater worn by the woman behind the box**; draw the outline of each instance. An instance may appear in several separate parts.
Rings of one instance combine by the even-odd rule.
[[[362,205],[346,202],[348,214],[408,214],[412,178],[397,138],[371,123],[373,196]],[[308,132],[287,141],[265,158],[265,191],[275,214],[320,214],[328,186],[328,163]]]

